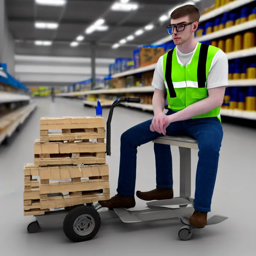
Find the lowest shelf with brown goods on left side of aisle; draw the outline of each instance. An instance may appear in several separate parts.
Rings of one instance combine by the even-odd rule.
[[[0,133],[0,144],[6,139],[12,136],[12,134],[16,131],[16,129],[24,123],[24,121],[27,119],[27,117],[33,112],[33,110],[36,108],[36,103],[32,102],[29,105],[26,105],[24,107],[21,107],[12,113],[0,117],[1,121],[8,121],[10,125]],[[13,121],[15,120],[15,121]]]

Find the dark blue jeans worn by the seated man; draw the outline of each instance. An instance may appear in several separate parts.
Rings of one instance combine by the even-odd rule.
[[[167,115],[172,115],[169,110]],[[137,147],[163,136],[151,132],[152,119],[138,124],[121,136],[120,168],[117,193],[123,196],[135,195]],[[210,212],[213,189],[219,163],[219,151],[223,130],[217,117],[190,119],[171,123],[167,135],[187,135],[195,138],[199,147],[196,170],[196,191],[194,208]],[[172,188],[172,155],[169,145],[154,144],[156,160],[156,188]]]

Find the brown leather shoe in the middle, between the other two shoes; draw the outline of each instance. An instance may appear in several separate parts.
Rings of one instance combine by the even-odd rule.
[[[156,188],[148,192],[137,191],[136,196],[144,201],[173,199],[173,189]]]

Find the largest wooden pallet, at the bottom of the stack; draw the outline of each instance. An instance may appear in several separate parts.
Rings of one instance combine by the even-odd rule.
[[[53,167],[26,164],[24,174],[24,216],[110,199],[107,164]],[[39,175],[40,184],[32,180],[31,174]]]

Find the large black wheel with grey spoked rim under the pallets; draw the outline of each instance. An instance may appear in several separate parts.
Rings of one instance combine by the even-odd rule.
[[[83,205],[71,210],[63,221],[65,235],[74,242],[95,237],[100,229],[100,215],[92,207]]]

